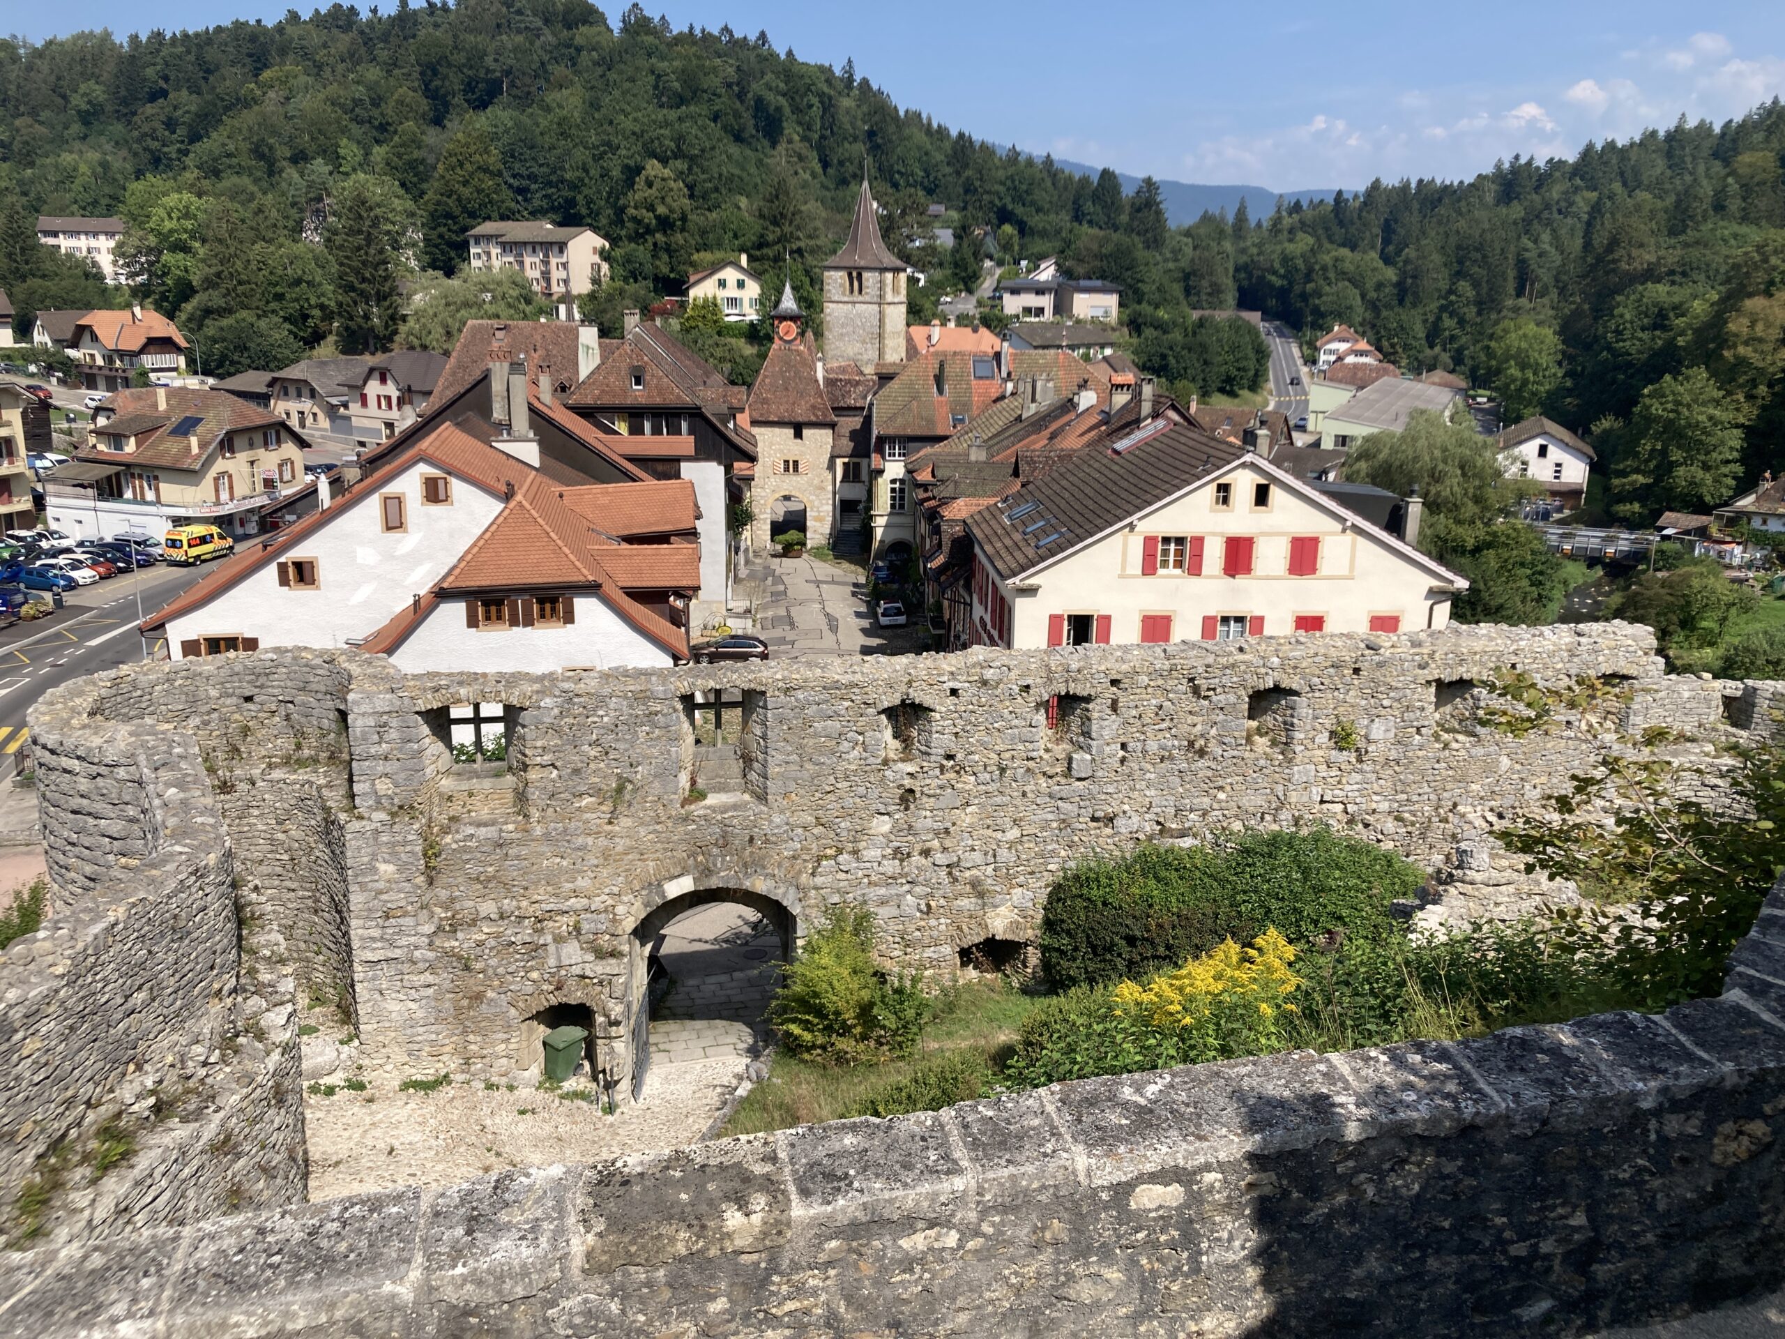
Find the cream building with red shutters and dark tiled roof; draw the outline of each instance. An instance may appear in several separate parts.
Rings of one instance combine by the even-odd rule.
[[[967,521],[973,645],[1440,628],[1469,586],[1241,446],[1166,420],[1130,436]]]

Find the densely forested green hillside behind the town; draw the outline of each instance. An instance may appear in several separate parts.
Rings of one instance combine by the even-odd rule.
[[[1176,389],[1262,371],[1258,346],[1191,309],[1262,307],[1310,334],[1348,321],[1403,368],[1455,368],[1515,414],[1594,432],[1612,500],[1635,516],[1721,502],[1776,464],[1781,155],[1771,105],[1565,162],[1171,229],[1151,180],[1125,196],[1112,171],[998,152],[768,34],[671,32],[637,5],[612,27],[584,0],[334,5],[0,43],[0,286],[21,323],[123,302],[30,236],[37,212],[118,212],[137,295],[178,318],[207,370],[437,345],[444,314],[491,311],[487,282],[450,279],[464,229],[519,216],[614,243],[614,280],[591,302],[603,323],[737,250],[771,277],[791,255],[812,307],[866,166],[889,241],[944,282],[989,255],[1059,252],[1121,284],[1135,355]],[[919,243],[932,200],[953,214],[955,255]],[[418,282],[434,320],[400,334]],[[935,287],[914,291],[914,320]],[[493,309],[537,312],[519,286]]]

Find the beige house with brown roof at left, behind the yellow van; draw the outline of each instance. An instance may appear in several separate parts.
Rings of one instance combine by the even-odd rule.
[[[225,391],[120,391],[87,446],[45,480],[45,514],[77,537],[209,521],[245,539],[316,505],[303,445],[278,414]]]

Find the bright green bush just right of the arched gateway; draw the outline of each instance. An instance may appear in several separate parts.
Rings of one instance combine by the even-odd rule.
[[[782,1044],[826,1064],[910,1055],[925,1012],[916,978],[875,966],[875,916],[866,907],[834,907],[769,1002]]]

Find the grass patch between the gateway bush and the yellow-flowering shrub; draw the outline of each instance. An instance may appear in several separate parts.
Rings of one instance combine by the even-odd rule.
[[[721,1134],[759,1134],[793,1125],[834,1121],[868,1093],[909,1077],[917,1062],[937,1052],[976,1050],[1003,1059],[1039,1003],[1000,978],[971,982],[948,991],[923,1030],[917,1055],[884,1064],[828,1066],[778,1053],[769,1077],[750,1089]]]

